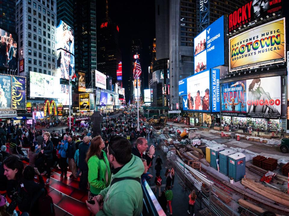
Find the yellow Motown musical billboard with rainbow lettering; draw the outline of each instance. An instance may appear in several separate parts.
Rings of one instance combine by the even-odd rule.
[[[284,20],[278,19],[230,38],[230,71],[284,62]]]

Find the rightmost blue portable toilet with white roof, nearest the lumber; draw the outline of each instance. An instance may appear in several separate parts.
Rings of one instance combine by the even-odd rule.
[[[228,177],[235,182],[246,175],[246,156],[240,152],[228,156]]]

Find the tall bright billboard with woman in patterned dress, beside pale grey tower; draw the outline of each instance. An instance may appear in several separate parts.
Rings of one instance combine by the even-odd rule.
[[[58,78],[71,79],[75,76],[74,31],[67,23],[60,20],[56,27],[56,52]]]

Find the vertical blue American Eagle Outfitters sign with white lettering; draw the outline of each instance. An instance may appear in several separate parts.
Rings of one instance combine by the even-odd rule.
[[[220,70],[211,69],[212,112],[220,112]]]

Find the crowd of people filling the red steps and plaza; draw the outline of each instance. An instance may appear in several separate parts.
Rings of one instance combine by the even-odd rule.
[[[135,113],[105,119],[101,125],[102,134],[94,138],[91,133],[78,135],[77,131],[62,131],[50,134],[45,130],[30,131],[16,126],[12,133],[10,131],[9,153],[6,143],[2,143],[0,189],[7,191],[12,202],[15,200],[21,215],[41,215],[48,205],[39,204],[38,200],[49,197],[44,185],[50,183],[51,170],[59,167],[63,178],[77,179],[80,175],[79,189],[88,192],[86,205],[94,215],[140,215],[143,210],[142,181],[151,184],[154,178],[159,203],[165,212],[168,207],[172,214],[175,171],[171,168],[163,173],[164,186],[163,161],[160,156],[155,157],[157,140],[143,125],[138,131],[136,122]],[[5,131],[3,127],[0,123],[0,134],[1,130]],[[148,145],[149,138],[154,145]],[[23,160],[29,163],[25,169]],[[68,167],[70,176],[67,176]],[[156,173],[148,172],[149,169]],[[43,175],[47,176],[46,182]],[[34,179],[38,179],[38,183]],[[12,199],[15,192],[21,194],[22,200]],[[188,212],[191,215],[194,215],[191,210],[194,197],[190,198]]]

